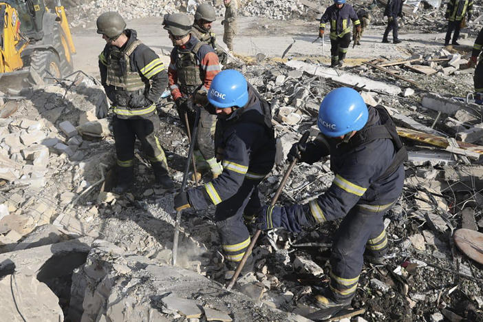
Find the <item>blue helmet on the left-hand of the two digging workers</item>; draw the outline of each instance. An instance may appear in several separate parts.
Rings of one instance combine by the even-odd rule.
[[[208,101],[221,109],[232,106],[244,107],[248,103],[246,79],[235,69],[219,72],[211,82]]]

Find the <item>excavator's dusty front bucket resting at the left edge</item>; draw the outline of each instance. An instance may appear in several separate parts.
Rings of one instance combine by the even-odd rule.
[[[33,68],[25,67],[14,72],[0,73],[0,92],[18,94],[22,89],[43,85],[43,80]]]

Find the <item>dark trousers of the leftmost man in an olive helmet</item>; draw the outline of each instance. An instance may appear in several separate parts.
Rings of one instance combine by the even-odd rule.
[[[158,138],[160,131],[158,114],[140,118],[112,118],[116,157],[118,164],[118,181],[133,180],[134,144],[140,140],[142,151],[147,155],[156,175],[167,174],[168,164]]]

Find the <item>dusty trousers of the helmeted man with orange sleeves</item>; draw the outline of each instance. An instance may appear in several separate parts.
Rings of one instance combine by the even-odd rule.
[[[180,109],[179,107],[176,108],[176,111],[178,111],[178,116],[180,117],[182,125],[184,125],[184,131],[186,131],[186,121],[184,119],[184,113],[186,111],[184,109]],[[191,135],[193,135],[192,129],[195,123],[195,113],[191,111],[187,111],[187,113]],[[206,111],[206,109],[202,109],[200,114],[200,123],[198,125],[195,149],[200,150],[204,160],[215,158],[215,141],[213,140],[213,136],[215,134],[215,125],[216,116],[210,114],[208,111]]]

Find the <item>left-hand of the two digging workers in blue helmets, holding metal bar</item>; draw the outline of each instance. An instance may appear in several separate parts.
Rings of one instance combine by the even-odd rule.
[[[261,207],[258,185],[275,163],[275,135],[270,104],[233,69],[219,72],[208,90],[217,114],[215,153],[223,172],[217,178],[175,196],[175,209],[205,209],[214,204],[228,270],[235,270],[250,244],[244,217]],[[253,269],[250,255],[242,274]],[[228,277],[228,275],[226,275]]]

